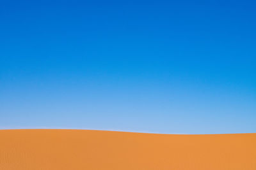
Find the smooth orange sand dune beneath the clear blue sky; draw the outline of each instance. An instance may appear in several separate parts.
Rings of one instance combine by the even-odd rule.
[[[255,170],[256,134],[1,130],[0,169]]]

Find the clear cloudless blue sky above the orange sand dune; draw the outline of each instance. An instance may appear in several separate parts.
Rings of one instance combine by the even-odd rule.
[[[256,132],[255,1],[0,1],[0,129]]]

